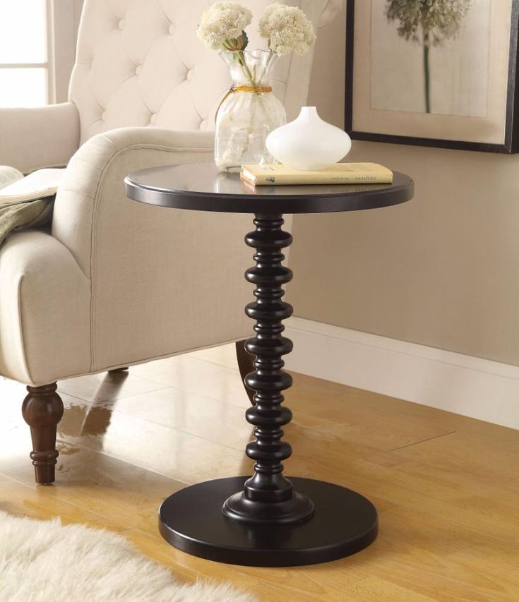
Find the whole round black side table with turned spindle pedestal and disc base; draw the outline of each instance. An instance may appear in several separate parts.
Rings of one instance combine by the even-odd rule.
[[[237,174],[218,174],[213,164],[143,169],[125,180],[133,200],[200,211],[253,213],[256,229],[245,236],[256,265],[246,271],[256,285],[256,301],[245,313],[256,320],[245,348],[256,356],[245,384],[256,392],[246,420],[255,440],[246,445],[253,459],[251,477],[219,478],[174,493],[162,503],[159,528],[173,546],[187,553],[236,565],[296,566],[343,558],[369,546],[378,529],[373,504],[359,493],[309,478],[287,478],[282,461],[292,448],[282,427],[292,412],[282,392],[292,377],[282,356],[292,341],[282,336],[282,320],[292,306],[282,301],[282,285],[292,271],[282,265],[282,249],[292,236],[282,230],[284,213],[324,213],[398,205],[413,195],[412,179],[395,173],[392,184],[261,186]]]

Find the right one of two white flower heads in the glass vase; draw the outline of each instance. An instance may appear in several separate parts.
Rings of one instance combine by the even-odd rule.
[[[314,26],[302,10],[285,4],[270,4],[259,23],[261,37],[276,54],[292,50],[304,54],[316,41]]]

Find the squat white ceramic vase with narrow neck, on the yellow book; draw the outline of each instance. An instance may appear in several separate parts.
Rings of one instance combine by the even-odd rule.
[[[352,140],[345,131],[323,121],[316,107],[302,107],[295,121],[269,134],[266,145],[280,163],[306,171],[338,163],[350,152]]]

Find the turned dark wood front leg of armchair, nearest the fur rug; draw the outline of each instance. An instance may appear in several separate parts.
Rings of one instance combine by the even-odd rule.
[[[37,483],[54,482],[58,452],[56,450],[56,426],[63,416],[63,402],[56,393],[57,385],[27,387],[23,400],[23,419],[30,426],[32,452],[30,459],[35,467]]]

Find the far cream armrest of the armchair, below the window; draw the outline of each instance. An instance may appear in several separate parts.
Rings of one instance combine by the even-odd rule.
[[[36,109],[0,109],[0,164],[28,173],[66,165],[79,146],[73,102]]]

